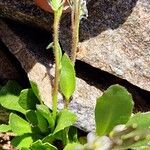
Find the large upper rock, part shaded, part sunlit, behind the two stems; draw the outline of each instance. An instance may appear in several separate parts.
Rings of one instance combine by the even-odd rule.
[[[77,59],[150,91],[149,4],[149,0],[89,0]],[[52,15],[32,0],[1,0],[0,12],[3,17],[52,31]],[[69,53],[69,15],[63,16],[60,31],[63,49]]]

